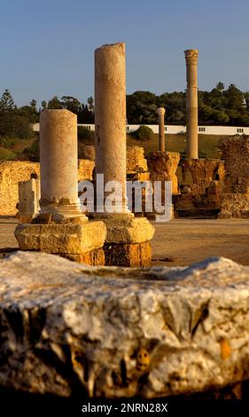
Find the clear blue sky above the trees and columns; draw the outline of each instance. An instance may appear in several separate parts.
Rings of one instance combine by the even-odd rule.
[[[249,90],[249,0],[0,0],[0,94],[93,95],[94,50],[125,42],[127,92],[185,88],[185,49],[199,50],[198,87]]]

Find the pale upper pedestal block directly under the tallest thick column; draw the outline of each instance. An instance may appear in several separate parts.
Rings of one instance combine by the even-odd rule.
[[[105,219],[106,243],[143,243],[152,240],[155,229],[145,217],[128,217],[127,220]]]

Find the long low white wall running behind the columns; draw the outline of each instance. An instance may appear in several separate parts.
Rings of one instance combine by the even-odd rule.
[[[94,130],[94,124],[78,124],[78,126],[83,126],[89,130]],[[158,124],[146,124],[148,128],[151,128],[154,133],[159,133]],[[128,124],[126,129],[127,132],[133,132],[140,127],[140,124]],[[39,131],[39,123],[33,125],[33,130]],[[177,125],[166,125],[166,133],[172,135],[177,135],[179,133],[186,133],[186,126],[177,126]],[[224,135],[224,136],[233,136],[233,135],[249,135],[249,127],[237,127],[237,126],[198,126],[198,131],[202,135]]]

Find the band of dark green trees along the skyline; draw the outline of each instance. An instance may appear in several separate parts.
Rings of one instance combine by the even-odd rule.
[[[158,107],[166,108],[167,124],[186,124],[185,91],[156,95],[151,91],[135,91],[127,96],[128,124],[157,124]],[[78,123],[94,123],[94,101],[89,97],[81,103],[72,96],[54,96],[37,107],[35,99],[27,106],[16,106],[9,90],[0,98],[0,136],[28,138],[31,124],[39,121],[43,109],[66,108],[77,114]],[[241,91],[235,84],[225,89],[217,83],[211,91],[198,90],[198,124],[249,126],[249,91]]]

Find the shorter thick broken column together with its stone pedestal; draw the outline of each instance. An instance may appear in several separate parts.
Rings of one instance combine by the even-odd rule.
[[[21,250],[105,264],[103,222],[88,221],[78,200],[77,118],[68,110],[40,116],[41,211],[15,230]]]

